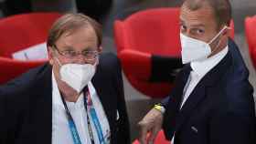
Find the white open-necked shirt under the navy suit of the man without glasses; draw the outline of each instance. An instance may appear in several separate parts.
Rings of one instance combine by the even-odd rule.
[[[205,60],[191,62],[190,66],[192,70],[190,71],[190,75],[187,78],[186,86],[183,89],[183,100],[181,103],[181,108],[186,105],[187,98],[193,92],[194,88],[197,87],[197,84],[200,80],[206,76],[206,74],[213,68],[216,67],[219,62],[228,54],[229,47],[226,46],[223,50],[221,50],[218,54],[208,57]],[[173,143],[174,138],[172,139]]]

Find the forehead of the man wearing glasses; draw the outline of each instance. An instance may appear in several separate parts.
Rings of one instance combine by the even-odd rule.
[[[59,47],[71,47],[77,50],[96,47],[97,35],[92,26],[81,26],[64,33],[56,43]]]

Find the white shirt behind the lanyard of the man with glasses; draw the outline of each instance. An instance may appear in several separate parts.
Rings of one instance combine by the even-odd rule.
[[[110,135],[110,127],[104,110],[101,106],[101,101],[97,96],[97,93],[92,86],[91,82],[88,84],[91,94],[91,100],[96,110],[96,114],[101,123],[101,129],[104,137]],[[80,141],[82,144],[91,144],[91,138],[87,124],[87,112],[84,107],[84,96],[80,94],[77,102],[66,101],[69,108],[69,112],[74,120],[76,128],[78,130]],[[91,115],[89,115],[91,119]],[[92,135],[95,144],[100,144],[96,129],[91,121]],[[61,100],[59,93],[59,87],[57,85],[54,74],[52,73],[52,144],[73,144],[72,135],[69,129],[68,118],[66,109]],[[108,143],[108,142],[107,142]]]

